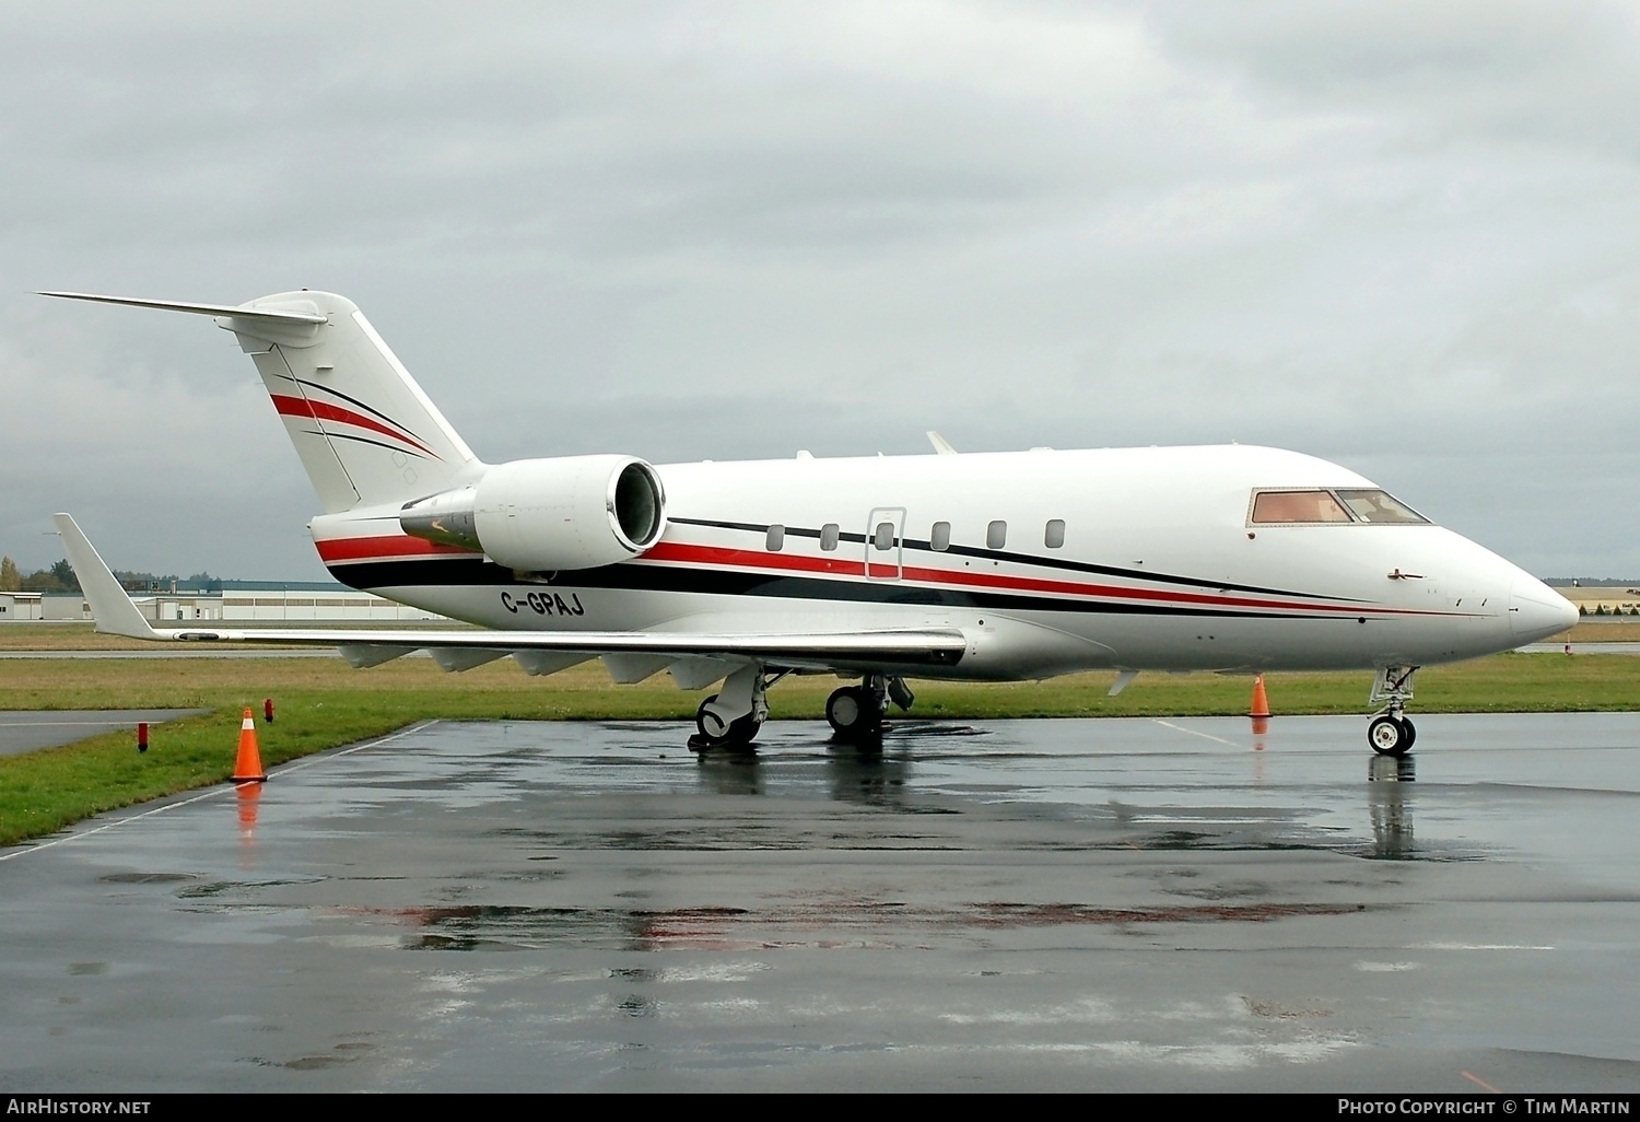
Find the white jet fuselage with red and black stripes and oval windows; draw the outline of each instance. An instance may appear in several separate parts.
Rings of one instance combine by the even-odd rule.
[[[595,569],[513,572],[405,536],[397,505],[323,515],[312,530],[338,579],[492,628],[971,636],[956,666],[907,669],[920,677],[1420,666],[1576,620],[1547,586],[1435,525],[1255,525],[1256,489],[1373,487],[1269,448],[797,458],[659,474],[659,543]],[[935,548],[938,523],[946,548]]]

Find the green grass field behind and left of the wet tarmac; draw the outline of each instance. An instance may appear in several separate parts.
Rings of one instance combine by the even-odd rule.
[[[945,686],[915,682],[917,717],[1179,717],[1245,714],[1251,679],[1141,674],[1105,697],[1114,674],[1050,682]],[[820,720],[833,677],[789,677],[769,694],[776,718]],[[1364,714],[1371,674],[1269,674],[1281,714]],[[325,748],[377,737],[425,718],[686,720],[704,694],[659,676],[610,686],[592,663],[546,679],[495,663],[441,674],[431,659],[351,671],[339,659],[62,659],[0,663],[0,709],[208,709],[157,725],[138,755],[130,733],[0,758],[0,845],[39,837],[103,810],[226,781],[243,709],[261,725],[262,763],[274,768]],[[1640,658],[1620,654],[1499,654],[1419,671],[1415,714],[1640,710]],[[820,730],[817,730],[818,735]]]

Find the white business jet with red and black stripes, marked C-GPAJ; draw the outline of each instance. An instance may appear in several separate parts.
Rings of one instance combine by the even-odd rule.
[[[600,658],[702,702],[695,750],[743,746],[787,674],[881,743],[909,679],[1371,669],[1368,743],[1404,755],[1414,673],[1571,627],[1576,609],[1353,471],[1253,446],[935,453],[654,466],[628,454],[481,461],[359,308],[43,295],[213,317],[251,356],[323,513],[335,577],[474,630],[154,628],[57,515],[98,630],[182,643],[426,650],[530,674]]]

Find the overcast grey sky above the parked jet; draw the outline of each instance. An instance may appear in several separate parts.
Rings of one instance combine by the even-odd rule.
[[[318,579],[249,359],[489,461],[1264,443],[1640,577],[1632,3],[0,0],[0,553]]]

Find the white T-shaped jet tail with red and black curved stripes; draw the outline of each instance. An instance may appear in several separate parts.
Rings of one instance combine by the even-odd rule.
[[[449,490],[481,466],[346,297],[280,292],[226,307],[44,295],[216,317],[256,363],[325,513]]]

